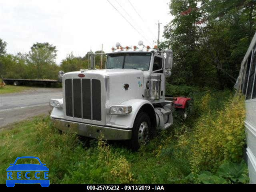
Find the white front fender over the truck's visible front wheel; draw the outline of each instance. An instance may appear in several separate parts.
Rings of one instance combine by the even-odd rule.
[[[150,103],[148,100],[143,99],[131,99],[128,101],[122,102],[120,105],[130,105],[132,106],[132,112],[125,115],[111,115],[108,114],[107,119],[107,126],[113,126],[113,127],[125,127],[125,128],[132,128],[134,124],[134,120],[138,114],[138,111],[144,104],[150,104],[152,108],[154,106],[152,103]]]

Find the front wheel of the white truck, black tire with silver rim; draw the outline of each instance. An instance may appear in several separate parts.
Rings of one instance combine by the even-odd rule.
[[[132,128],[132,139],[130,140],[130,148],[137,151],[140,146],[148,143],[154,136],[150,118],[145,112],[140,112],[134,121]]]

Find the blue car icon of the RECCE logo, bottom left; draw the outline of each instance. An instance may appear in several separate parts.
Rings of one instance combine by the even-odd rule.
[[[16,164],[16,162],[19,159],[36,159],[40,164]],[[7,187],[14,187],[15,184],[37,184],[40,183],[42,187],[48,187],[50,185],[50,180],[48,179],[48,171],[49,169],[45,166],[46,164],[43,164],[38,157],[18,157],[14,161],[14,163],[10,164],[10,167],[8,167],[7,170],[7,180],[6,180],[6,186]],[[15,171],[16,174],[13,174],[12,171]],[[34,174],[31,172],[36,171]],[[22,172],[25,173],[26,179],[21,179]],[[42,174],[44,176],[44,179],[42,179]],[[35,179],[30,179],[31,177],[34,177]]]

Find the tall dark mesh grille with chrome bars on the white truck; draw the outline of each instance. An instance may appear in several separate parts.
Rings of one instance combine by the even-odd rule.
[[[66,79],[65,103],[66,116],[100,121],[100,80]]]

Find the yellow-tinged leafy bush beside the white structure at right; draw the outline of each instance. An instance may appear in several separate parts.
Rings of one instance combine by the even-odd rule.
[[[207,107],[208,95],[202,98]],[[245,144],[244,97],[237,94],[224,109],[208,110],[196,124],[191,143],[190,165],[192,172],[214,170],[223,162],[240,161]]]

